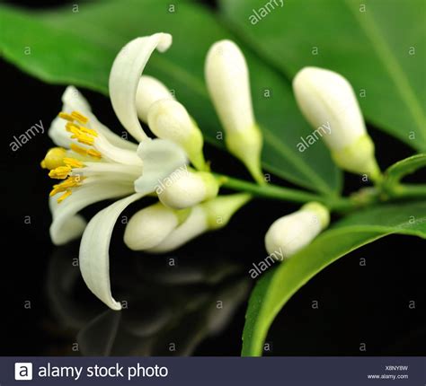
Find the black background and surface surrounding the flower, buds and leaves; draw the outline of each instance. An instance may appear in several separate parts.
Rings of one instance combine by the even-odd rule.
[[[65,2],[13,3],[43,7]],[[214,6],[213,1],[208,3]],[[48,129],[61,108],[65,87],[41,83],[4,61],[0,66],[2,213],[6,230],[0,271],[5,303],[0,355],[239,355],[246,293],[253,285],[248,269],[252,262],[266,256],[263,235],[272,221],[297,206],[253,201],[226,229],[206,234],[173,253],[177,268],[167,268],[170,257],[127,250],[122,242],[123,226],[118,224],[110,253],[113,293],[118,299],[120,294],[133,296],[136,306],[122,312],[107,311],[85,288],[78,268],[73,267],[78,241],[62,248],[49,241],[48,194],[52,181],[40,168],[40,160],[52,146],[49,137],[46,133],[36,136],[15,153],[9,145],[13,135],[19,136],[40,119]],[[107,98],[95,92],[83,93],[103,123],[112,129],[120,127]],[[368,131],[377,145],[382,169],[413,154],[374,127],[368,127]],[[248,178],[241,165],[225,152],[207,145],[206,154],[215,171]],[[424,172],[418,173],[412,180],[424,181],[424,177]],[[345,181],[345,192],[359,189],[359,177],[346,175]],[[284,185],[277,178],[272,182]],[[93,215],[103,206],[93,206],[84,214]],[[139,206],[130,206],[125,215]],[[30,216],[31,224],[24,223],[25,216]],[[360,265],[363,258],[365,266]],[[351,252],[325,268],[286,304],[272,325],[267,339],[270,351],[265,355],[425,355],[424,258],[424,241],[396,235]],[[206,284],[213,272],[222,272],[220,278]],[[224,291],[242,296],[240,303],[235,302],[239,305],[233,316],[228,322],[225,311],[206,317],[206,306],[227,299]],[[191,301],[198,305],[191,308]],[[312,308],[315,301],[318,309]],[[415,302],[414,309],[409,308],[411,301]],[[182,310],[186,310],[186,316],[181,318],[178,314]],[[206,330],[207,325],[222,319],[226,327],[221,332]],[[165,326],[164,320],[172,327],[160,331],[158,326]],[[209,337],[204,338],[206,335]],[[170,342],[178,342],[175,352],[167,348]]]

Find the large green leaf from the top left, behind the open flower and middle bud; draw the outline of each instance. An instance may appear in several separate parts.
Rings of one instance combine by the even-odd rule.
[[[55,12],[30,13],[3,5],[2,56],[46,82],[72,83],[106,94],[112,61],[124,44],[157,31],[170,32],[172,48],[155,53],[146,73],[173,89],[206,139],[221,146],[223,141],[217,139],[221,128],[204,84],[204,59],[213,42],[234,38],[206,8],[186,1],[173,6],[174,12],[167,0],[120,0],[79,4],[76,13],[71,4]],[[288,81],[250,50],[243,50],[264,135],[264,168],[307,189],[335,194],[341,188],[341,172],[324,145],[297,151],[300,136],[309,129],[297,111]]]

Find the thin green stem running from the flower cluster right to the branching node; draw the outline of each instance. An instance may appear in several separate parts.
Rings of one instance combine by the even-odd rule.
[[[283,188],[277,185],[257,185],[253,182],[238,180],[222,174],[215,174],[220,180],[221,186],[236,191],[245,191],[255,197],[275,198],[290,202],[303,203],[316,201],[328,206],[331,210],[347,211],[357,206],[351,198],[324,197],[303,190]]]

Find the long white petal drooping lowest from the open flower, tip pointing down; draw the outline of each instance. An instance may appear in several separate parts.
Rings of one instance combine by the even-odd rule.
[[[133,194],[107,206],[87,224],[80,244],[80,270],[84,283],[112,310],[121,304],[111,295],[110,241],[112,230],[120,213],[143,195]]]

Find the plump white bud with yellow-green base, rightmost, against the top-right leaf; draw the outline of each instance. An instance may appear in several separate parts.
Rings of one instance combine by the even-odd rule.
[[[346,171],[380,178],[374,144],[351,84],[333,71],[305,67],[293,80],[297,104],[307,121],[321,133],[334,162]]]

